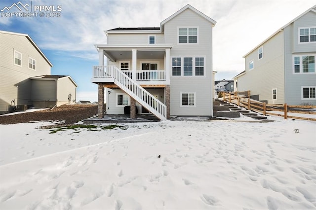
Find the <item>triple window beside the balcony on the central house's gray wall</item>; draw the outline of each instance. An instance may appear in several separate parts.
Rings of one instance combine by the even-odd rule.
[[[204,57],[172,58],[172,76],[204,76]]]

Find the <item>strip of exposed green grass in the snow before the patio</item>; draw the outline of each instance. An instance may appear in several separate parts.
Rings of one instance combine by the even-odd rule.
[[[98,125],[71,125],[71,126],[64,126],[58,127],[50,130],[50,134],[55,134],[59,131],[67,131],[67,130],[74,130],[74,133],[80,133],[81,129],[87,129],[89,131],[102,131],[102,130],[111,130],[114,128],[119,128],[122,130],[126,130],[124,126],[120,125],[107,125],[107,126],[98,126]]]

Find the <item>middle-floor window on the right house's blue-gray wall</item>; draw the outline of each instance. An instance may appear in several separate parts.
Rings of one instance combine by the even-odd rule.
[[[315,73],[316,55],[293,56],[294,73]]]

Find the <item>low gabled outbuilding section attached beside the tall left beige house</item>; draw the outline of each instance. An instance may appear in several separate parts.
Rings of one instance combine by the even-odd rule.
[[[70,76],[41,75],[31,77],[31,101],[37,108],[76,103],[78,85]]]

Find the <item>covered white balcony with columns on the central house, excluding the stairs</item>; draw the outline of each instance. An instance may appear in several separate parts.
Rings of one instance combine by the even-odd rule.
[[[91,82],[113,83],[113,69],[117,68],[140,85],[170,84],[172,45],[96,45],[96,47],[99,51],[99,66],[93,67]]]

